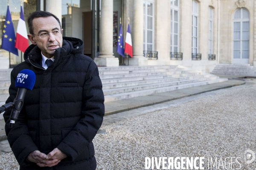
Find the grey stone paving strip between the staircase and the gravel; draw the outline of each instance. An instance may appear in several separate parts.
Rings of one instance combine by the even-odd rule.
[[[140,96],[140,97],[135,97],[131,99],[114,101],[114,102],[107,102],[105,103],[105,116],[112,115],[115,113],[120,113],[123,111],[129,111],[135,108],[142,108],[145,106],[155,105],[155,104],[171,101],[174,99],[180,99],[187,96],[193,96],[196,94],[202,94],[209,91],[215,91],[222,88],[230,88],[236,85],[243,85],[243,84],[245,84],[245,81],[243,79],[236,79],[236,78],[230,77],[230,79],[226,82],[197,86],[192,88],[185,88],[185,89],[159,93],[159,94],[151,94],[148,96]],[[119,119],[123,119],[123,117],[117,116],[116,118],[115,116],[115,118],[112,120],[104,119],[103,125],[116,122]],[[99,130],[98,133],[104,133],[104,130]],[[5,130],[4,130],[4,120],[0,119],[0,141],[1,141],[0,154],[3,152],[11,151],[11,148],[9,147],[9,144],[6,139],[7,139],[7,136],[5,135]]]

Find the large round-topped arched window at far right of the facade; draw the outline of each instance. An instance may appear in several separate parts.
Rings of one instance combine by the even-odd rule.
[[[239,8],[233,17],[233,63],[249,63],[250,16]]]

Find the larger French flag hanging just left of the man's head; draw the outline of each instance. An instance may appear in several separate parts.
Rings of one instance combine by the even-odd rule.
[[[18,48],[20,51],[25,52],[26,48],[28,47],[29,41],[27,37],[26,23],[24,20],[22,6],[20,6],[20,19],[17,26],[15,48]]]

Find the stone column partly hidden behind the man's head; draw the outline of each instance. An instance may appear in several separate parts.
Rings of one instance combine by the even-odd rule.
[[[61,6],[61,0],[45,0],[45,11],[56,15],[60,22],[62,17]]]

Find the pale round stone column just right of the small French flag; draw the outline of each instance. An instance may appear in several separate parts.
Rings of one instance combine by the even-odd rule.
[[[130,58],[129,65],[148,65],[148,59],[143,56],[143,0],[134,0],[133,26],[133,58]]]

